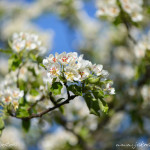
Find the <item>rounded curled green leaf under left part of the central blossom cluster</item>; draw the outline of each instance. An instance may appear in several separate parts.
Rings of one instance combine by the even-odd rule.
[[[54,95],[59,95],[59,94],[61,94],[62,87],[63,87],[63,85],[60,82],[54,82],[52,84],[52,87],[50,88],[50,91]]]

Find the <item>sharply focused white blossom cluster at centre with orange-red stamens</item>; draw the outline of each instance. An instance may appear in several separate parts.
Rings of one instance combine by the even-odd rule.
[[[78,57],[76,52],[61,54],[50,54],[49,57],[43,60],[43,65],[47,70],[47,76],[51,79],[64,76],[69,82],[84,81],[90,76],[101,77],[101,80],[106,80],[109,75],[108,71],[103,70],[103,65],[92,64],[90,61],[83,59],[83,55]],[[112,82],[109,82],[105,91],[109,94],[114,94],[115,90],[111,87]]]

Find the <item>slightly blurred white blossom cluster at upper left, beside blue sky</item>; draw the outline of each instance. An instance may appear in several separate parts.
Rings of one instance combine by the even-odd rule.
[[[33,33],[14,33],[12,36],[11,47],[17,53],[22,50],[38,50],[40,52],[46,51],[46,48],[42,45],[42,41],[39,40],[38,35]]]

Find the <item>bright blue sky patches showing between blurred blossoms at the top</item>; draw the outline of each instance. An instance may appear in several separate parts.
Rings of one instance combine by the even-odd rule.
[[[26,1],[31,2],[33,0]],[[84,3],[84,9],[90,17],[95,17],[96,8],[94,1]],[[59,16],[52,13],[44,13],[33,22],[41,29],[52,29],[54,31],[52,53],[76,51],[72,43],[74,40],[79,40],[81,35],[77,30],[71,29],[68,23],[60,19]]]

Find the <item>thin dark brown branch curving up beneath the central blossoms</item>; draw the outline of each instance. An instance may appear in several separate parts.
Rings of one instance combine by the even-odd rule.
[[[43,115],[49,113],[50,111],[55,110],[55,109],[59,108],[60,106],[69,103],[69,102],[70,102],[71,100],[73,100],[75,97],[77,97],[77,95],[72,95],[72,96],[70,96],[70,98],[68,98],[67,100],[65,100],[65,101],[63,101],[63,102],[61,102],[61,103],[59,103],[59,104],[57,104],[57,105],[55,105],[55,106],[53,106],[53,107],[51,107],[51,108],[46,109],[46,110],[42,111],[41,113],[32,114],[31,116],[28,116],[28,117],[17,117],[16,114],[13,114],[13,113],[9,113],[9,114],[10,114],[10,116],[12,116],[12,117],[15,117],[15,118],[18,118],[18,119],[25,119],[25,120],[26,120],[26,119],[32,119],[32,118],[42,117]]]

